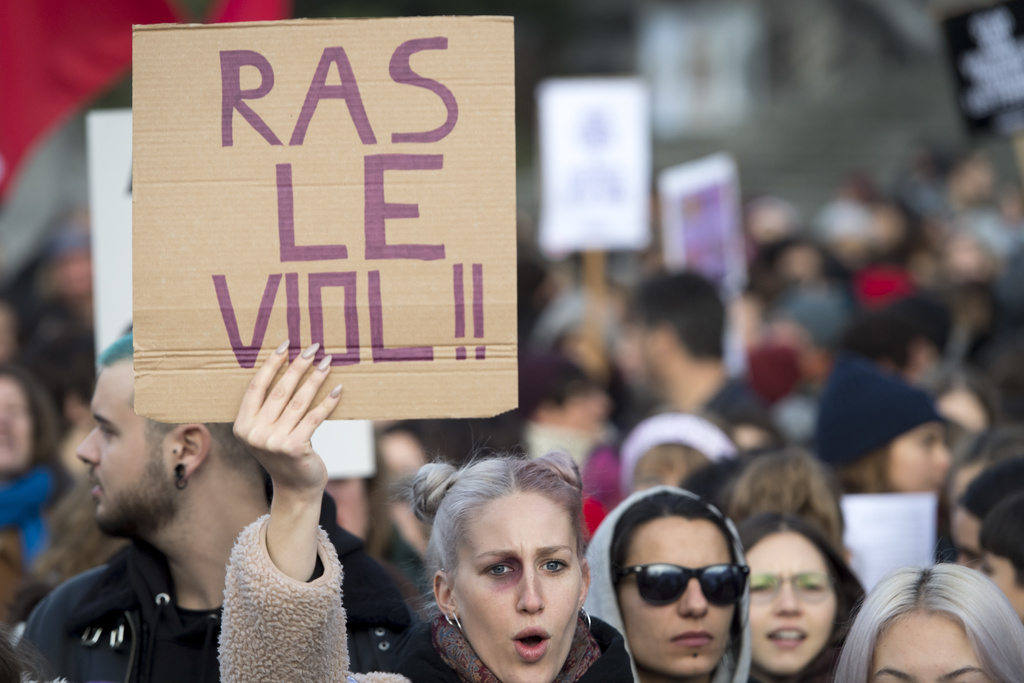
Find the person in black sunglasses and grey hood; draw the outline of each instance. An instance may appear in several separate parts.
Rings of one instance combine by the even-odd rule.
[[[633,494],[587,553],[587,610],[626,635],[640,683],[746,683],[748,567],[735,527],[674,486]]]

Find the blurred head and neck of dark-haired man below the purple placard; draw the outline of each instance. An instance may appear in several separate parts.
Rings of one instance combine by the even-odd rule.
[[[651,278],[634,297],[632,317],[647,380],[673,411],[725,420],[763,411],[744,382],[729,379],[725,306],[708,280],[692,272]]]

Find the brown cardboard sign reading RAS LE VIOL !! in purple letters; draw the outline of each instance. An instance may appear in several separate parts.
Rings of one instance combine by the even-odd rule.
[[[233,419],[284,340],[333,418],[516,405],[508,17],[134,30],[135,410]]]

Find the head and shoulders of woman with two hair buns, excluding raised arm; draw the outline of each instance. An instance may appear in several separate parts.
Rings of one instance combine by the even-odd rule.
[[[425,465],[413,509],[432,525],[438,612],[414,629],[413,681],[622,681],[622,636],[583,611],[590,587],[579,470],[563,454]]]

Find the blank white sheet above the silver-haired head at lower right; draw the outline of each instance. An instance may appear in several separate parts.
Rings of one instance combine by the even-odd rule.
[[[842,508],[846,525],[843,544],[864,590],[871,590],[897,567],[935,562],[935,494],[844,496]]]

